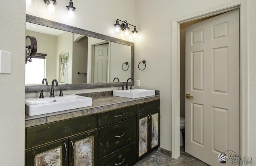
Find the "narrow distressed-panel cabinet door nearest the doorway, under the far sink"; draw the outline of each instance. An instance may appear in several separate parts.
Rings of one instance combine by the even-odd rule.
[[[150,152],[160,145],[160,109],[150,112]]]

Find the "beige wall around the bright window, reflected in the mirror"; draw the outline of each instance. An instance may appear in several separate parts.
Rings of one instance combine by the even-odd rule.
[[[52,81],[56,78],[56,72],[52,72],[56,70],[56,42],[57,37],[54,35],[48,35],[45,33],[39,33],[34,31],[26,30],[26,35],[31,35],[36,37],[37,41],[37,53],[47,54],[46,56],[46,78],[49,81]],[[28,62],[29,63],[29,62]],[[43,78],[42,78],[43,79]]]

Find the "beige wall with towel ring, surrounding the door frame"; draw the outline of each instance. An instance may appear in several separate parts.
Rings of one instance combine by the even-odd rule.
[[[139,0],[135,4],[136,26],[140,39],[135,49],[135,79],[141,88],[160,90],[161,135],[160,146],[171,150],[171,96],[172,96],[172,19],[187,16],[234,0]],[[248,57],[249,57],[249,154],[256,158],[256,1],[248,2]],[[147,5],[145,5],[147,4]],[[147,68],[138,70],[136,64],[146,60]]]

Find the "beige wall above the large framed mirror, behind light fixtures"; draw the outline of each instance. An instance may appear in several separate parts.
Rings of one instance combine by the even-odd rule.
[[[48,20],[65,23],[74,27],[79,27],[89,31],[104,35],[130,40],[127,37],[116,34],[113,28],[116,19],[127,20],[128,23],[135,22],[135,0],[76,0],[76,21],[67,22],[64,19],[66,14],[65,6],[68,1],[59,0],[55,16],[46,16],[44,13],[45,4],[42,0],[34,0],[36,10],[26,10],[26,14],[45,18]],[[132,28],[131,28],[132,29]]]

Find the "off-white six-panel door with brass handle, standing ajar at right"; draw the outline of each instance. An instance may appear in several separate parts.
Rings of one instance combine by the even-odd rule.
[[[185,92],[185,151],[223,166],[218,154],[239,154],[239,9],[186,27]]]

